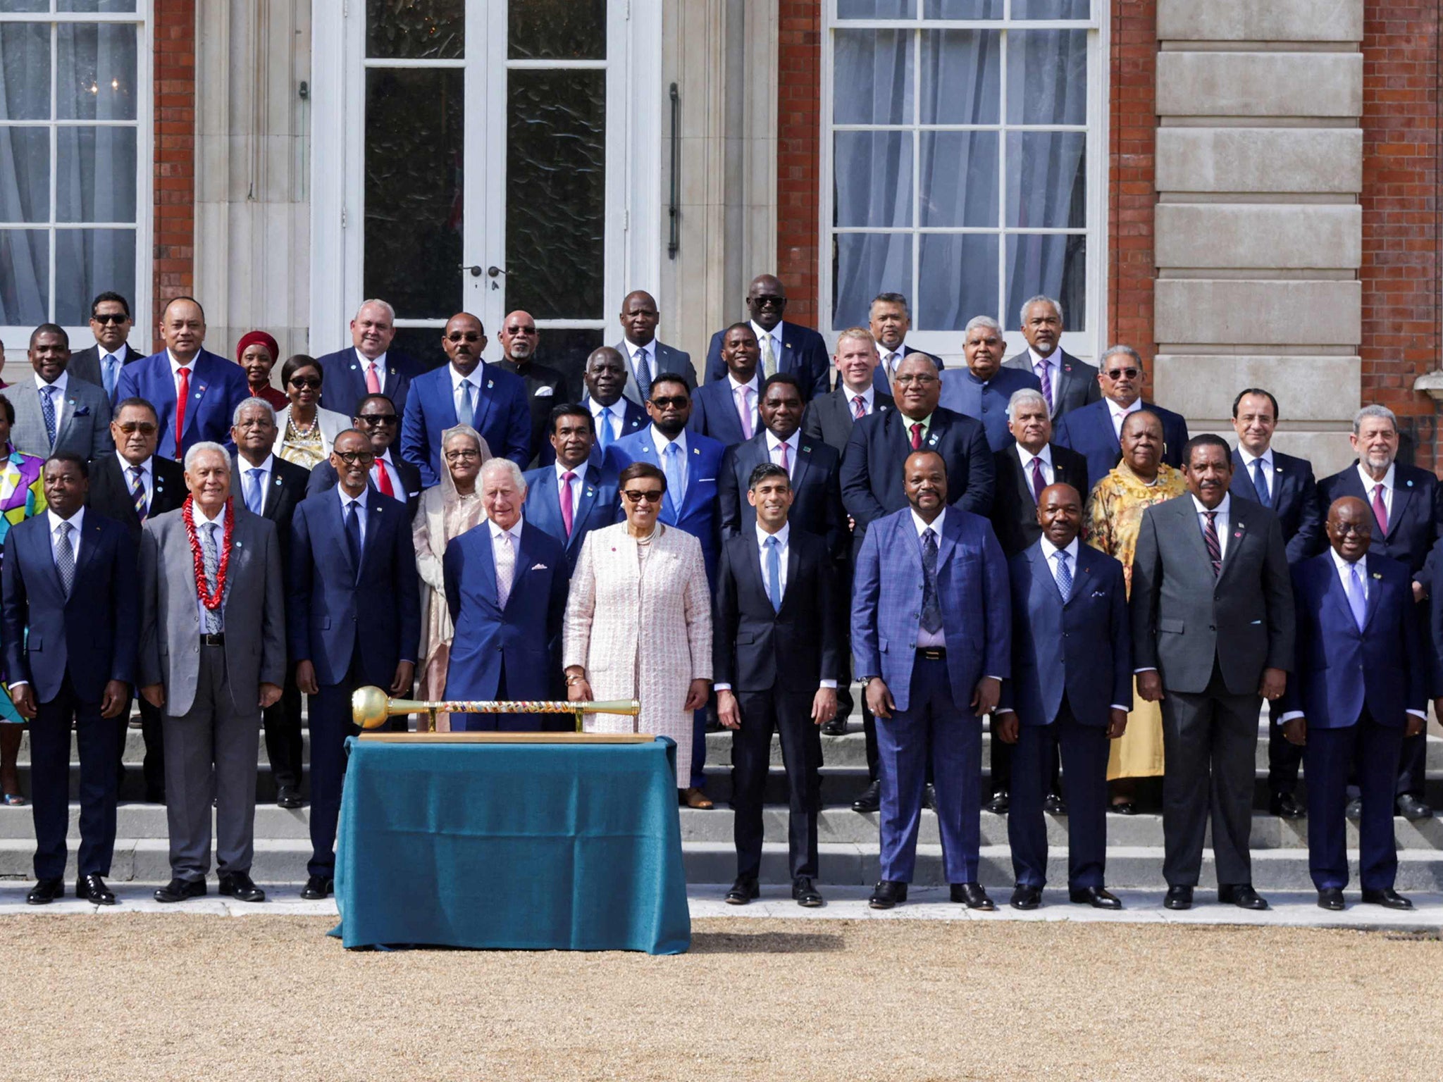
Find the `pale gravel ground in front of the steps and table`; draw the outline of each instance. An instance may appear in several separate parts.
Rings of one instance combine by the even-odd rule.
[[[697,920],[675,958],[346,952],[328,918],[0,918],[0,1068],[170,1079],[1439,1078],[1443,944]]]

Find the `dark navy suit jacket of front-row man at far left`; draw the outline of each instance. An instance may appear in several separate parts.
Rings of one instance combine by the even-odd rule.
[[[82,703],[100,703],[113,679],[134,684],[136,558],[126,528],[87,509],[66,597],[51,550],[51,516],[10,527],[0,563],[7,679],[30,681],[40,703],[61,694],[66,675]]]

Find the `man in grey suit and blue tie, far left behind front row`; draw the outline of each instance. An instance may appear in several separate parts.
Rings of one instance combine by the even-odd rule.
[[[35,377],[6,388],[14,407],[10,444],[26,454],[49,457],[61,452],[87,462],[111,449],[110,398],[95,384],[72,377],[71,339],[63,327],[42,323],[30,333]]]

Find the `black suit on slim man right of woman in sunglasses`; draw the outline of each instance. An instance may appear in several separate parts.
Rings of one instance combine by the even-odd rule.
[[[732,736],[737,879],[755,880],[762,867],[762,799],[773,730],[786,767],[791,874],[817,876],[821,736],[811,704],[821,681],[841,677],[841,613],[825,541],[789,528],[782,558],[781,609],[768,596],[756,529],[726,540],[717,568],[713,675],[732,687],[742,714]]]

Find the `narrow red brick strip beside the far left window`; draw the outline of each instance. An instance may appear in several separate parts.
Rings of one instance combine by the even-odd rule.
[[[154,81],[152,335],[166,302],[195,289],[195,0],[156,0]]]

